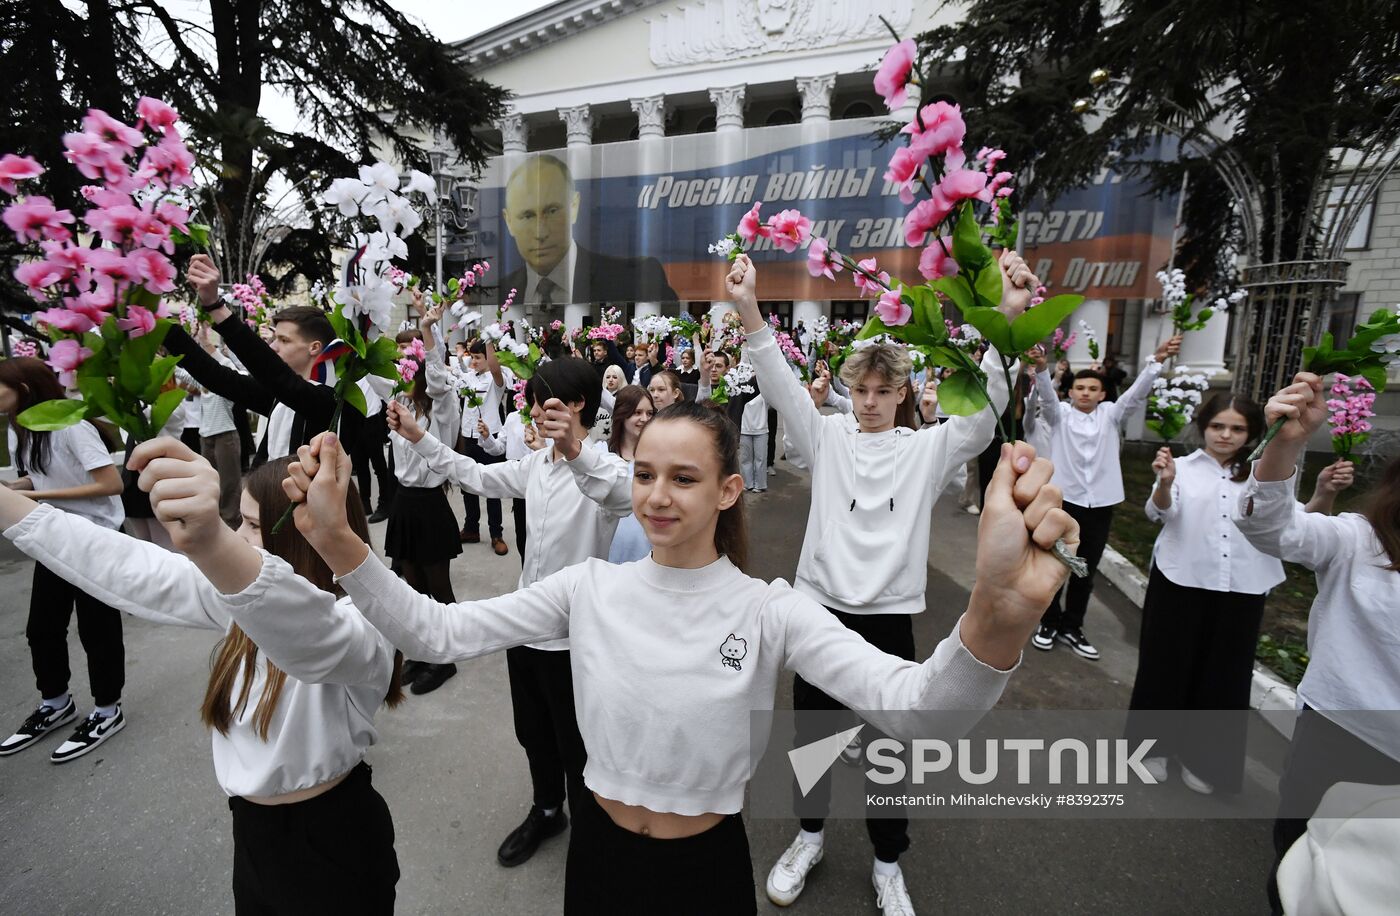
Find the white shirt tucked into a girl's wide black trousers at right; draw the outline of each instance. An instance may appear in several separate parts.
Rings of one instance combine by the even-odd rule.
[[[1232,521],[1243,492],[1245,482],[1232,480],[1229,468],[1204,448],[1176,459],[1170,508],[1147,497],[1147,517],[1162,525],[1152,563],[1163,576],[1187,588],[1242,595],[1263,595],[1284,581],[1284,564],[1256,550]]]

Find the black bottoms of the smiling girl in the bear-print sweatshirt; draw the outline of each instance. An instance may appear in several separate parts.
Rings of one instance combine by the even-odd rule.
[[[743,818],[731,814],[704,833],[655,839],[613,824],[591,791],[573,803],[564,870],[564,913],[757,912]]]

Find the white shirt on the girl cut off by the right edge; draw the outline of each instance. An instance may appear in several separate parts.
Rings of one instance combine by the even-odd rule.
[[[1298,702],[1400,761],[1400,573],[1365,515],[1305,511],[1288,480],[1246,482],[1235,524],[1256,548],[1317,574],[1308,612],[1308,672]]]

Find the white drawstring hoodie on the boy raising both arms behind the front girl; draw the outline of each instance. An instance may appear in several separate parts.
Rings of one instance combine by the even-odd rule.
[[[847,613],[920,613],[928,584],[928,517],[958,468],[981,454],[1007,406],[1001,359],[988,350],[993,409],[916,431],[861,433],[823,415],[792,377],[769,328],[749,335],[767,402],[812,465],[812,508],[794,587]]]

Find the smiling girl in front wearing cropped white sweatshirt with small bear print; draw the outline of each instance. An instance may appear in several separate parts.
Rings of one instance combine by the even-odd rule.
[[[1063,580],[1047,548],[1061,536],[1075,543],[1075,527],[1043,487],[1049,462],[1008,447],[988,490],[967,612],[916,664],[879,651],[785,583],[741,571],[748,531],[728,420],[672,405],[644,430],[636,465],[633,511],[650,557],[587,560],[455,605],[412,592],[353,541],[343,517],[350,465],[335,437],[302,451],[290,479],[307,501],[298,527],[356,606],[406,651],[447,661],[570,637],[588,765],[573,796],[567,913],[753,913],[739,811],[750,712],[773,709],[778,671],[791,667],[860,709],[987,710]],[[294,576],[248,577],[283,583],[284,612],[297,616],[304,587]]]

